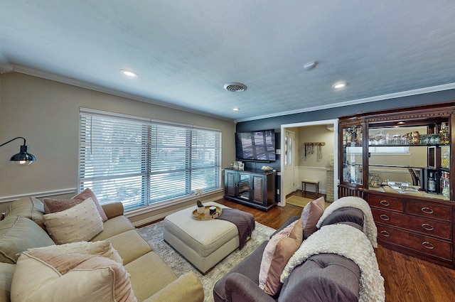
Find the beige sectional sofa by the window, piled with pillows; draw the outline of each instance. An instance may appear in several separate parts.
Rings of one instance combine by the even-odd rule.
[[[198,276],[194,273],[187,273],[178,277],[159,255],[153,251],[153,248],[149,243],[135,230],[135,227],[127,217],[123,215],[124,209],[122,203],[102,205],[102,210],[104,210],[106,215],[105,218],[107,218],[107,220],[102,222],[102,231],[90,239],[90,242],[81,242],[81,244],[110,242],[108,245],[114,249],[110,254],[118,253],[119,257],[123,260],[123,264],[117,264],[116,269],[120,271],[126,270],[127,274],[124,275],[127,276],[126,280],[128,286],[134,291],[135,298],[133,297],[132,299],[131,295],[128,298],[127,294],[125,294],[123,301],[136,301],[136,298],[137,301],[147,302],[203,301],[203,287]],[[48,233],[48,225],[45,225],[45,222],[48,224],[49,221],[44,219],[47,219],[47,217],[44,217],[44,212],[44,204],[41,200],[31,197],[22,198],[21,200],[16,200],[10,204],[9,211],[6,213],[4,220],[0,221],[0,302],[10,301],[10,296],[11,301],[38,301],[37,299],[41,298],[36,297],[52,295],[53,289],[52,286],[49,285],[51,282],[60,282],[60,284],[55,283],[58,284],[59,292],[55,291],[54,296],[46,298],[47,301],[57,301],[55,300],[55,297],[57,297],[58,294],[67,294],[68,297],[79,293],[82,295],[82,290],[75,290],[75,288],[77,288],[77,286],[82,286],[77,282],[82,279],[85,281],[87,279],[85,276],[81,277],[80,275],[75,275],[77,277],[75,277],[73,281],[69,281],[71,279],[68,279],[68,282],[62,285],[62,282],[65,282],[65,279],[63,279],[63,273],[61,273],[61,271],[59,271],[57,275],[62,278],[57,278],[55,276],[48,277],[45,275],[47,274],[46,270],[49,268],[47,263],[43,266],[42,271],[39,271],[40,269],[36,268],[42,267],[44,262],[39,258],[39,251],[43,250],[42,248],[37,249],[38,254],[24,252],[27,250],[33,251],[33,248],[52,247],[55,244],[55,241]],[[63,222],[59,223],[64,224]],[[82,224],[81,228],[83,228],[83,225],[85,224]],[[68,233],[68,236],[78,232],[78,227],[73,226],[71,228],[71,232]],[[68,232],[68,230],[66,232]],[[61,235],[62,234],[60,234],[60,237]],[[65,247],[66,245],[68,244],[56,245],[56,247]],[[51,254],[51,256],[51,261],[58,258],[54,257],[53,254]],[[90,258],[95,256],[80,257]],[[94,259],[98,258],[100,257]],[[72,259],[75,259],[75,257]],[[108,261],[111,260],[109,259]],[[36,267],[31,266],[30,271],[27,271],[27,265],[31,265],[29,264],[30,262]],[[98,264],[98,266],[102,265]],[[20,272],[19,269],[21,270]],[[51,269],[48,270],[48,273],[53,274],[55,273],[55,270],[58,269],[51,267]],[[98,267],[97,269],[100,268]],[[112,269],[108,269],[107,272],[109,274],[112,273]],[[91,274],[91,271],[89,273]],[[118,275],[118,273],[116,274]],[[33,275],[36,275],[36,277]],[[68,274],[65,276],[67,275]],[[46,279],[50,280],[48,281],[48,284],[33,284],[38,281],[45,282]],[[94,284],[97,284],[96,281],[88,284],[87,288]],[[25,293],[23,292],[25,290],[33,291],[33,288],[29,288],[33,286],[36,286],[38,289],[45,288],[45,293],[34,292],[33,295],[36,296],[34,296],[35,298],[33,298],[33,300],[29,299],[27,296],[26,298],[23,298],[23,296],[20,297],[20,294],[18,294],[19,292],[22,292],[21,295],[24,295]],[[68,289],[65,289],[65,286],[68,287]],[[100,282],[100,287],[101,286]],[[122,286],[124,286],[124,284]],[[36,291],[38,291],[38,289]],[[103,292],[105,290],[107,293]],[[73,291],[75,291],[75,293],[73,293]],[[80,298],[75,298],[73,301],[119,300],[119,298],[112,297],[112,293],[109,292],[109,286],[107,286],[107,289],[100,288],[100,291],[97,291],[97,288],[95,288],[95,290],[92,288],[90,291],[97,292],[92,293],[93,295],[102,294],[104,296],[102,296],[102,298],[89,296],[88,299],[87,296],[81,296]],[[90,295],[90,293],[87,294]],[[65,301],[70,301],[70,298],[65,298]]]

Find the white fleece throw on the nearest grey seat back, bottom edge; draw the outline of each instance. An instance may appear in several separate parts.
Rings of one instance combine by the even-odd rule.
[[[385,288],[375,252],[363,232],[350,225],[325,225],[302,242],[284,267],[284,283],[294,267],[314,254],[338,254],[351,259],[360,269],[359,302],[384,302]]]

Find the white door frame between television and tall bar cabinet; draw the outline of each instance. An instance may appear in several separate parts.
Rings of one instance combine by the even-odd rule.
[[[282,124],[281,125],[281,141],[280,141],[280,149],[284,151],[284,134],[286,128],[299,128],[304,126],[317,126],[317,125],[333,125],[333,195],[334,200],[338,199],[338,184],[340,180],[338,179],[338,119],[324,119],[321,121],[313,121],[313,122],[301,122],[301,123],[293,123],[293,124]],[[281,156],[280,159],[280,171],[284,173],[284,156]],[[294,173],[295,177],[295,173]],[[295,182],[295,181],[294,181]],[[280,192],[282,188],[284,188],[284,175],[280,177]],[[284,207],[286,205],[286,195],[280,194],[280,200],[278,201],[278,205]]]

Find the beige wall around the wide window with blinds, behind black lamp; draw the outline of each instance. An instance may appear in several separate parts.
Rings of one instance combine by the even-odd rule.
[[[22,140],[0,148],[0,198],[77,187],[80,107],[220,129],[223,167],[235,160],[234,122],[13,72],[0,75],[0,144],[24,136],[37,160],[11,165]]]

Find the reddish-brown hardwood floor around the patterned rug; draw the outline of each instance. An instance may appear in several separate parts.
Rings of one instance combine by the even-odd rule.
[[[301,191],[296,194],[301,194]],[[310,197],[306,193],[306,197]],[[301,207],[286,205],[268,212],[256,210],[229,200],[217,203],[255,215],[257,222],[277,229],[289,217],[301,214]],[[455,270],[432,264],[379,246],[375,249],[379,269],[385,279],[387,302],[451,302],[455,301]]]

